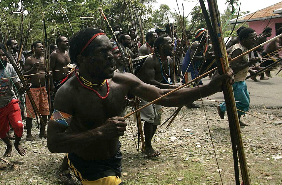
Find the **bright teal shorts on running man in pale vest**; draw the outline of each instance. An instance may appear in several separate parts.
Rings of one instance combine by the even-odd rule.
[[[250,106],[250,96],[249,96],[249,92],[247,90],[247,85],[245,82],[240,81],[240,82],[235,82],[233,85],[233,91],[234,91],[234,97],[235,97],[235,101],[239,101],[236,102],[236,108],[238,110],[242,110],[244,112],[247,112],[249,110],[249,106]],[[226,106],[225,106],[225,102],[223,102],[224,105],[220,104],[220,110],[222,112],[226,111]],[[237,111],[238,115],[244,115],[246,113],[241,112],[241,111]]]

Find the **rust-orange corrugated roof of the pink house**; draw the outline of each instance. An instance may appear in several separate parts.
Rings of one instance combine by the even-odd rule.
[[[238,18],[237,23],[244,22],[248,19],[249,19],[248,21],[257,21],[257,20],[263,20],[263,19],[270,19],[271,16],[272,18],[282,17],[281,14],[273,14],[274,10],[281,9],[281,8],[282,8],[282,1],[279,3],[273,4],[271,6],[268,6],[264,9],[258,10],[256,12],[252,12],[252,13],[240,16]],[[228,23],[235,23],[235,21],[236,21],[236,18],[230,20]]]

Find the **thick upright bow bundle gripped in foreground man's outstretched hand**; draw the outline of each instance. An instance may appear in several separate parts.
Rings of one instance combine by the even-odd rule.
[[[221,73],[226,73],[230,71],[230,68],[229,68],[226,48],[224,44],[224,39],[223,39],[223,34],[222,34],[222,29],[221,29],[221,21],[220,21],[220,16],[219,16],[219,11],[218,11],[216,0],[208,0],[208,6],[209,6],[209,11],[211,13],[211,22],[212,22],[212,28],[214,31],[214,33],[211,34],[213,37],[212,40],[213,40],[213,44],[217,43],[216,46],[219,52],[219,53],[215,52],[215,54],[217,55],[216,57],[219,59],[219,61],[221,61],[221,63],[218,66],[219,66]],[[268,41],[266,43],[269,43],[269,42],[271,41]],[[253,48],[252,51],[254,50],[255,49]],[[247,53],[244,53],[244,55],[246,54]],[[236,59],[234,58],[233,61],[234,60]],[[246,155],[244,151],[243,140],[241,136],[241,127],[239,123],[238,113],[236,110],[236,102],[235,102],[235,98],[233,94],[233,88],[232,88],[232,85],[230,85],[227,81],[223,83],[223,87],[224,87],[223,94],[224,94],[224,99],[226,100],[227,115],[228,115],[228,120],[229,120],[231,142],[233,143],[235,140],[235,144],[236,144],[236,145],[234,145],[234,143],[232,144],[236,184],[240,183],[238,181],[238,174],[236,174],[238,165],[236,165],[237,155],[235,156],[235,154],[237,154],[237,151],[238,151],[238,157],[239,157],[239,162],[240,162],[243,184],[251,185],[251,179],[250,179],[250,175],[248,171],[248,165],[247,165]],[[237,147],[237,149],[235,148],[235,146]]]

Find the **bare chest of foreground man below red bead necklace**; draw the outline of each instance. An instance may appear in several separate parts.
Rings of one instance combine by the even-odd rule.
[[[98,93],[104,97],[107,90],[105,88]],[[122,116],[125,96],[126,90],[110,86],[109,95],[101,99],[96,92],[81,87],[79,97],[76,97],[75,100],[73,122],[75,125],[73,126],[80,131],[85,131],[101,126],[111,117]]]

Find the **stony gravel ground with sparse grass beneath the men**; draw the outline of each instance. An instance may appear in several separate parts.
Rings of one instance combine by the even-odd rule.
[[[218,117],[216,104],[204,104],[223,184],[235,184],[228,120]],[[163,120],[175,110],[164,108]],[[241,131],[252,184],[282,184],[282,109],[251,107],[249,113],[265,120],[250,115],[241,118],[249,124]],[[131,124],[136,137],[136,122],[132,118]],[[168,130],[165,126],[157,129],[152,144],[162,154],[153,159],[136,151],[128,125],[125,135],[120,138],[124,154],[121,179],[125,184],[221,184],[203,108],[183,107]],[[25,140],[26,130],[21,141],[28,151],[27,156],[21,157],[13,149],[12,157],[6,158],[20,165],[20,170],[0,161],[0,184],[61,184],[53,174],[64,154],[50,153],[46,139],[38,138],[39,130],[34,127],[32,132],[36,141]],[[4,153],[5,149],[0,142],[0,152]]]

